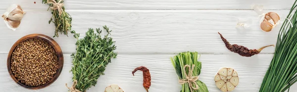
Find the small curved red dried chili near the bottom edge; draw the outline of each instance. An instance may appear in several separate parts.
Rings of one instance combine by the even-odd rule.
[[[148,70],[148,68],[146,68],[144,66],[137,67],[134,69],[134,71],[132,71],[133,76],[137,70],[143,71],[143,76],[144,76],[144,84],[143,85],[148,92],[148,89],[150,87],[150,80],[151,80],[149,70]]]

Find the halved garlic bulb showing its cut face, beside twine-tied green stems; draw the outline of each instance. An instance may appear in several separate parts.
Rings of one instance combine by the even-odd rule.
[[[214,77],[215,85],[222,92],[230,92],[235,89],[239,83],[237,72],[233,68],[220,68]]]

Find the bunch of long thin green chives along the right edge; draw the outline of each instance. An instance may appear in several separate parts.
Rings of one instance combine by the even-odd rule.
[[[297,82],[296,1],[287,16],[288,20],[281,27],[273,59],[259,92],[285,92]]]

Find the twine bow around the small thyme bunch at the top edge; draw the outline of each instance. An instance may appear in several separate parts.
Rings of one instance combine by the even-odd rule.
[[[62,14],[63,12],[63,6],[64,4],[61,3],[62,0],[59,0],[59,2],[56,2],[55,0],[47,0],[48,1],[48,4],[52,4],[52,7],[50,7],[50,9],[52,10],[58,10],[59,12],[59,15]]]

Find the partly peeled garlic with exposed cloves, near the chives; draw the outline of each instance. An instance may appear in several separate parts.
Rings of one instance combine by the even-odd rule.
[[[262,19],[260,27],[263,31],[269,32],[279,24],[280,16],[275,12],[268,12],[266,13]]]

